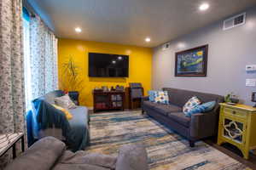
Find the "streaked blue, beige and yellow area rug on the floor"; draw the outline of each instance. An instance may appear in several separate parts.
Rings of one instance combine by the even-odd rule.
[[[144,144],[151,170],[241,170],[239,161],[200,141],[194,148],[169,128],[141,111],[90,115],[90,147],[87,152],[117,156],[121,145]]]

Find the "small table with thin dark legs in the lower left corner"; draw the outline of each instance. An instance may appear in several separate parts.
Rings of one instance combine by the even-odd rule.
[[[13,148],[13,158],[16,158],[16,143],[21,139],[21,150],[24,152],[24,133],[0,134],[0,156],[3,156],[10,148]]]

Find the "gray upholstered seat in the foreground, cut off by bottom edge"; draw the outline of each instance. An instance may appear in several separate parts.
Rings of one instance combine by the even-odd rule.
[[[66,150],[61,140],[45,137],[38,140],[6,170],[148,170],[148,156],[142,144],[127,144],[118,156]]]

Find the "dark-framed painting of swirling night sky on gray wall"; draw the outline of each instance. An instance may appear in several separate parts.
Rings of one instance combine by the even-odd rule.
[[[206,77],[208,45],[177,52],[175,77]]]

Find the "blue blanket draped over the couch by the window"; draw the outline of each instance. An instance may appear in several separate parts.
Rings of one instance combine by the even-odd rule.
[[[26,116],[28,143],[32,144],[34,139],[38,139],[38,132],[41,129],[61,128],[62,136],[67,140],[70,150],[84,150],[89,144],[90,135],[88,128],[87,108],[78,106],[69,110],[73,118],[67,121],[65,114],[55,109],[44,99],[32,101],[33,111],[29,111]]]

